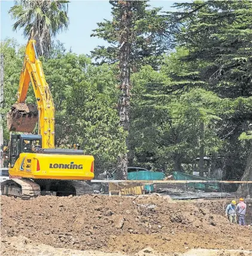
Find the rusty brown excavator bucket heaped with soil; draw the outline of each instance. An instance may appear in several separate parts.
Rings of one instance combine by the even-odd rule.
[[[35,104],[16,103],[7,113],[9,131],[32,132],[38,121],[38,109]]]

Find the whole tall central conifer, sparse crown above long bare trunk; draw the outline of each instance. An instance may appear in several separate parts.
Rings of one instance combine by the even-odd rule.
[[[159,15],[160,8],[149,9],[147,1],[110,1],[113,20],[98,23],[92,36],[103,38],[111,45],[97,47],[92,55],[101,63],[119,62],[120,126],[129,132],[130,73],[143,64],[157,68],[162,53],[169,47],[169,31],[166,20]],[[126,146],[128,140],[126,138]],[[118,177],[127,178],[127,153],[119,155]]]

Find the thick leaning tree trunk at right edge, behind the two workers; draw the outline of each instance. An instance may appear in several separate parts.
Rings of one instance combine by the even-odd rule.
[[[248,155],[247,165],[245,167],[244,174],[241,180],[251,181],[252,180],[252,148],[250,149],[250,154]],[[237,193],[243,197],[247,195],[252,195],[252,184],[240,184]]]

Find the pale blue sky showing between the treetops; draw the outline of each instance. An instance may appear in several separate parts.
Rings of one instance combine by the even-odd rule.
[[[177,0],[175,2],[185,2]],[[190,1],[188,1],[190,2]],[[174,0],[152,0],[151,7],[163,7],[163,11],[171,11]],[[13,7],[14,1],[0,0],[1,7],[1,40],[15,38],[19,44],[26,44],[27,39],[22,35],[22,30],[13,31],[8,11]],[[68,4],[69,26],[66,32],[60,32],[56,39],[64,44],[66,50],[71,49],[77,54],[90,54],[96,46],[108,46],[101,38],[90,37],[92,29],[97,28],[96,23],[103,19],[111,20],[111,5],[108,0],[80,1],[72,0]]]

